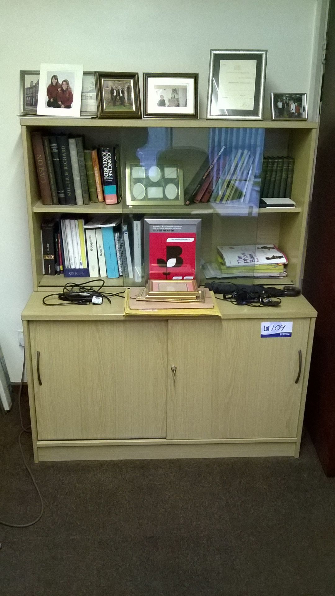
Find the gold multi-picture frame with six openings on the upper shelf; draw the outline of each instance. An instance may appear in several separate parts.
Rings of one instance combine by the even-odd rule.
[[[184,204],[181,165],[126,164],[126,203],[137,206]]]

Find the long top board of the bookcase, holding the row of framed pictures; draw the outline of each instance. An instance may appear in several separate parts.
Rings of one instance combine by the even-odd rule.
[[[188,119],[98,119],[98,118],[50,118],[48,116],[26,116],[20,118],[21,126],[61,126],[96,127],[96,128],[279,128],[310,129],[318,128],[317,122],[308,120],[188,120]]]

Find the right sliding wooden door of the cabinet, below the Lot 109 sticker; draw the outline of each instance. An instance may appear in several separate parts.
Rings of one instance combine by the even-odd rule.
[[[309,319],[271,339],[259,319],[169,321],[167,438],[296,437],[308,332]]]

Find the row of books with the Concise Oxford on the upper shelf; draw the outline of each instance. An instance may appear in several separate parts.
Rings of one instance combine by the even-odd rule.
[[[44,205],[115,204],[121,200],[119,148],[84,149],[82,136],[32,132]]]

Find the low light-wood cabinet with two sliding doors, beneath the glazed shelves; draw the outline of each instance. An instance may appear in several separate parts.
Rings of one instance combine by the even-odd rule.
[[[222,318],[160,320],[43,297],[22,313],[36,461],[299,455],[316,316],[302,296],[276,319],[220,302]],[[271,320],[291,337],[261,338]]]

